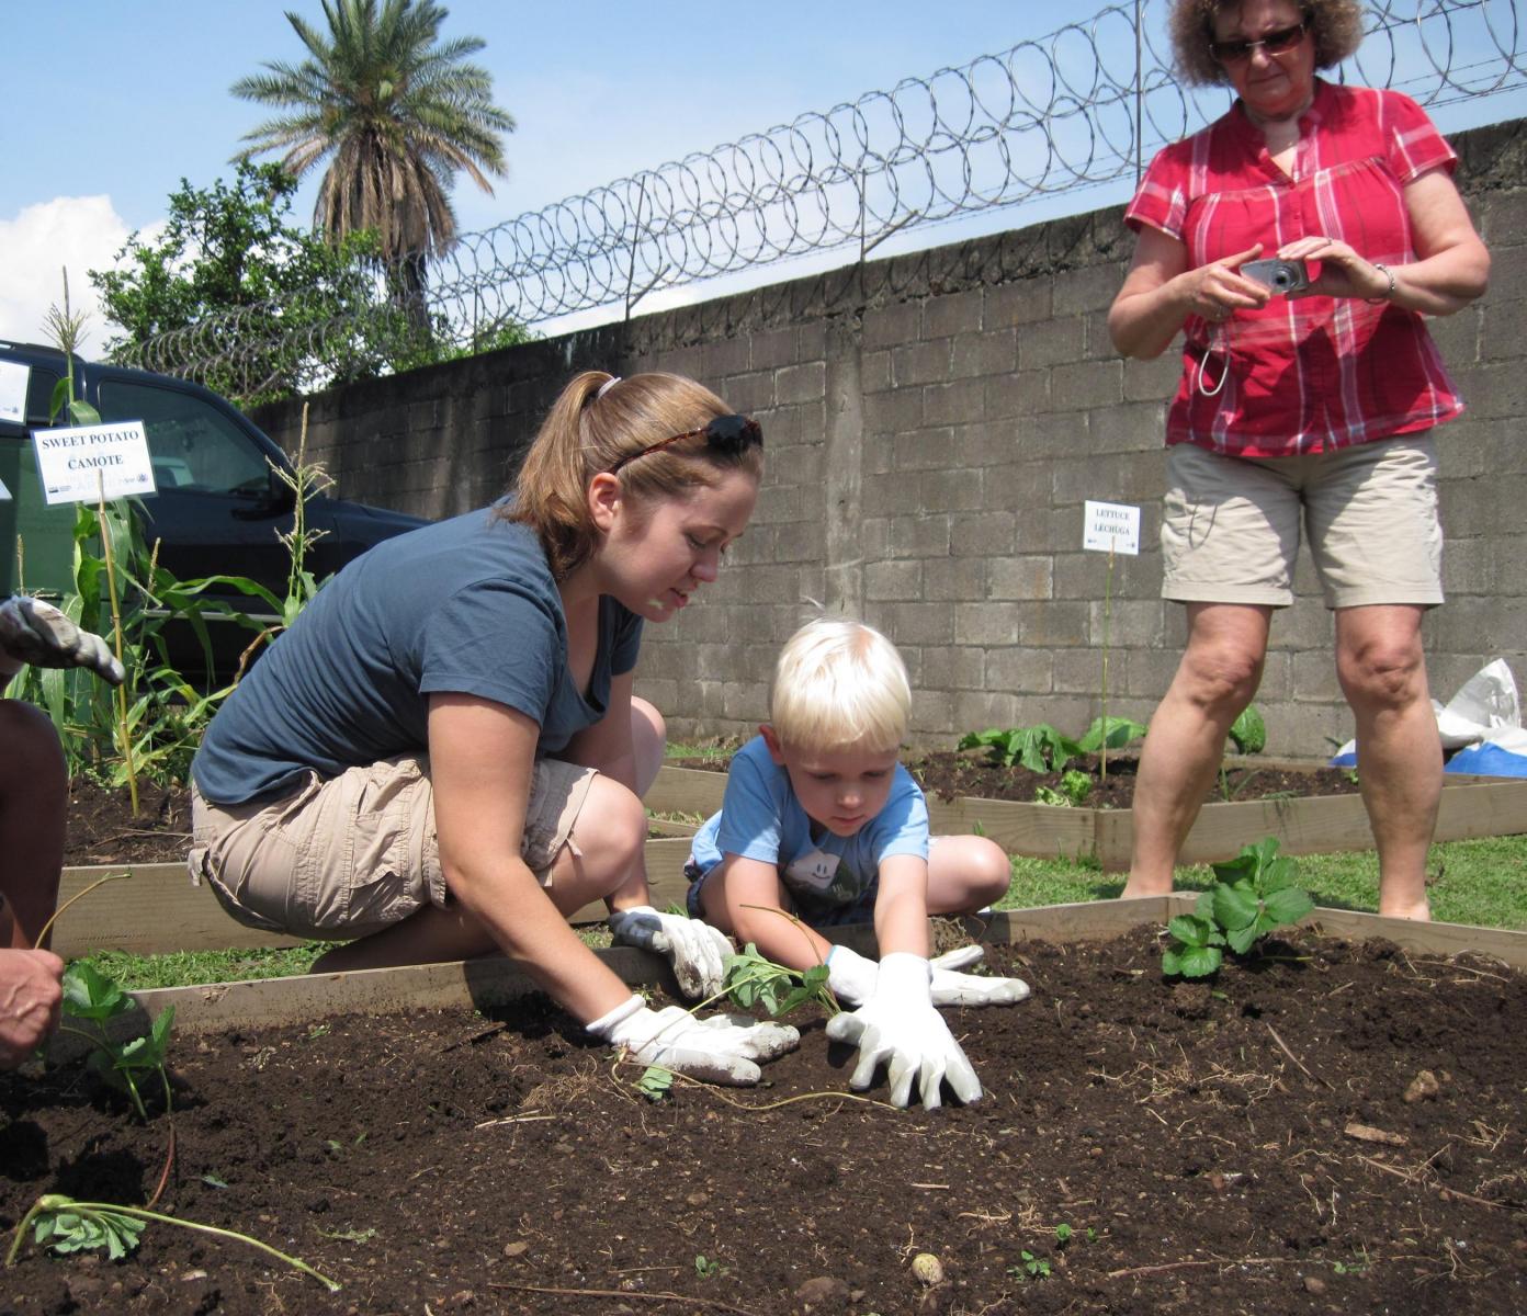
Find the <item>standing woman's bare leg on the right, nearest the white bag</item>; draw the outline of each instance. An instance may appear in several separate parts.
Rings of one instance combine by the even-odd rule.
[[[1379,913],[1429,919],[1426,850],[1441,798],[1441,740],[1426,689],[1422,608],[1336,612],[1336,675],[1358,721],[1358,780],[1379,850]]]

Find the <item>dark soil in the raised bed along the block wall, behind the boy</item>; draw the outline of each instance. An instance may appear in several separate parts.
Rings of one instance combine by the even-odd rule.
[[[973,795],[983,800],[1034,800],[1041,786],[1060,789],[1060,773],[1034,773],[1022,763],[1005,768],[985,753],[928,751],[909,754],[904,760],[913,777],[930,795],[953,800]],[[675,768],[704,768],[724,773],[724,759],[670,759]],[[1110,754],[1107,777],[1096,754],[1073,759],[1067,769],[1081,769],[1092,777],[1092,792],[1083,802],[1089,809],[1128,809],[1135,802],[1135,773],[1139,760]],[[1290,795],[1353,795],[1358,783],[1345,768],[1274,768],[1248,759],[1228,762],[1223,777],[1217,777],[1205,803],[1226,800],[1267,800]]]

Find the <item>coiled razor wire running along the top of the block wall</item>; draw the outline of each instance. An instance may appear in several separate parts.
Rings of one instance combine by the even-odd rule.
[[[502,325],[603,307],[629,316],[660,289],[815,252],[857,249],[863,260],[909,229],[1127,179],[1225,105],[1222,89],[1173,76],[1168,3],[1109,5],[1000,55],[464,234],[428,266],[437,340],[470,347]],[[1443,105],[1519,90],[1524,72],[1516,0],[1373,0],[1362,46],[1336,76]],[[273,359],[286,386],[342,377],[365,337],[376,351],[376,325],[354,316],[308,322],[257,305],[119,357],[215,376],[250,397],[278,383]]]

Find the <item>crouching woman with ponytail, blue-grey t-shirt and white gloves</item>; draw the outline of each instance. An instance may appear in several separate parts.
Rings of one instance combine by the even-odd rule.
[[[716,579],[762,434],[667,374],[577,376],[513,499],[379,543],[228,698],[192,763],[192,878],[241,922],[350,940],[316,969],[502,951],[646,1064],[756,1082],[779,1024],[644,1008],[567,916],[719,988],[725,939],[651,908],[641,794],[663,719],[632,698],[644,621]]]

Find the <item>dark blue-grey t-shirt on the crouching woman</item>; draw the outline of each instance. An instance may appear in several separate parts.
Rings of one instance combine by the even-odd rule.
[[[556,754],[635,667],[641,618],[600,598],[586,698],[567,660],[562,597],[536,533],[493,508],[411,530],[347,565],[212,718],[191,774],[217,805],[290,794],[316,771],[429,745],[429,696],[476,695],[541,725]]]

